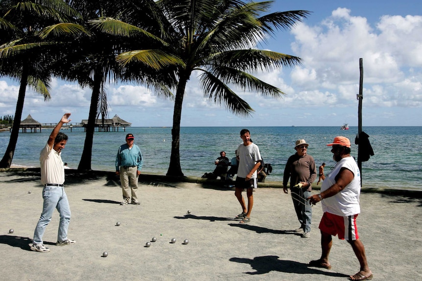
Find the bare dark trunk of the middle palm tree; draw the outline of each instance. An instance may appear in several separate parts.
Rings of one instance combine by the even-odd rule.
[[[78,171],[87,171],[91,169],[91,160],[93,154],[93,142],[95,131],[95,119],[97,116],[98,99],[100,96],[100,89],[102,83],[101,71],[94,70],[94,86],[91,95],[90,113],[88,117],[88,124],[86,128],[84,149],[82,151],[81,161],[79,162]]]

